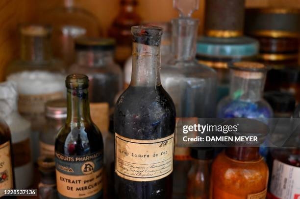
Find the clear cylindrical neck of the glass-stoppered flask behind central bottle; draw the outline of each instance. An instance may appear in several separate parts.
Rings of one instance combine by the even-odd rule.
[[[196,56],[198,20],[177,18],[172,21],[172,51],[178,61],[190,61]]]

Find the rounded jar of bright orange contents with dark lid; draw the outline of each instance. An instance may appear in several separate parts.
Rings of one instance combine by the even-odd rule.
[[[239,124],[235,136],[251,134],[265,137],[268,126],[254,119],[235,119]],[[225,124],[224,124],[225,125]],[[258,142],[263,142],[259,139]],[[265,199],[269,170],[259,155],[259,143],[237,142],[225,148],[212,164],[211,194],[213,199]]]

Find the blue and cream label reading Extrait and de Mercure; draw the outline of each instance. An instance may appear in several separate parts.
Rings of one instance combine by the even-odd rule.
[[[102,195],[103,154],[66,156],[55,152],[60,198],[98,199]]]

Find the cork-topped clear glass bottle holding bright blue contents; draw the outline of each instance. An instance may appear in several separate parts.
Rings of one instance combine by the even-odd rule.
[[[217,116],[255,118],[268,123],[273,111],[262,98],[268,68],[255,62],[236,62],[229,68],[229,95],[219,102]]]

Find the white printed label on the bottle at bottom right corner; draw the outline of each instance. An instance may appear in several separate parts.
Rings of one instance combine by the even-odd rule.
[[[300,167],[274,160],[270,192],[279,199],[300,198]]]

